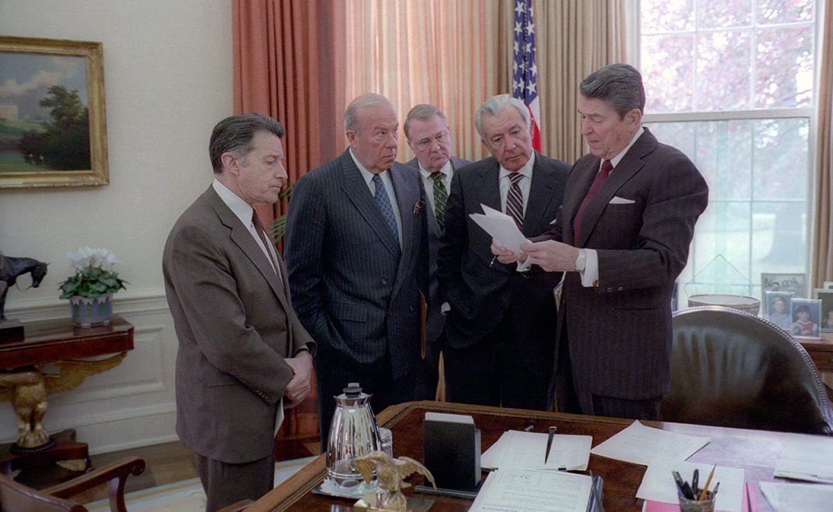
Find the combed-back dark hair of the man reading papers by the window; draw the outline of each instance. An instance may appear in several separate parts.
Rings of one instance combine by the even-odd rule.
[[[620,119],[634,108],[645,112],[642,75],[630,64],[611,64],[591,72],[578,88],[581,96],[608,103]]]

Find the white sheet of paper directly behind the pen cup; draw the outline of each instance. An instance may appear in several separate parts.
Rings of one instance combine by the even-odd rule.
[[[663,503],[678,503],[676,484],[671,471],[680,472],[682,480],[691,484],[691,475],[695,468],[700,471],[700,487],[706,485],[709,478],[711,464],[705,462],[686,462],[684,460],[670,460],[656,458],[648,464],[645,475],[642,476],[642,483],[636,490],[636,497],[643,500],[662,501]],[[743,470],[741,468],[727,468],[717,466],[715,475],[711,477],[709,489],[713,490],[717,482],[721,483],[717,491],[715,510],[726,512],[741,512],[743,504]]]

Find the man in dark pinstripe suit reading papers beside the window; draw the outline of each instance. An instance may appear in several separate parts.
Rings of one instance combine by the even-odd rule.
[[[602,67],[579,87],[591,154],[570,171],[551,231],[515,255],[567,271],[559,310],[562,412],[656,420],[671,383],[671,291],[708,187],[694,164],[641,126],[642,77]]]

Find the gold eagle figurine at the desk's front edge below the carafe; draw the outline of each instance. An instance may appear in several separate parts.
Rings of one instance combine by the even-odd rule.
[[[367,493],[363,501],[369,505],[370,510],[387,510],[390,512],[406,512],[408,503],[402,489],[411,487],[405,479],[413,473],[419,473],[436,489],[434,476],[418,460],[410,457],[398,457],[393,459],[383,451],[372,451],[369,454],[356,460],[356,469],[362,474],[362,479],[367,483],[373,479],[373,470],[376,470],[380,492]]]

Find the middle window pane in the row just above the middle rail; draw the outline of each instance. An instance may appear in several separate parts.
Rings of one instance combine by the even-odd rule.
[[[696,110],[749,108],[748,32],[701,33],[697,50]]]

